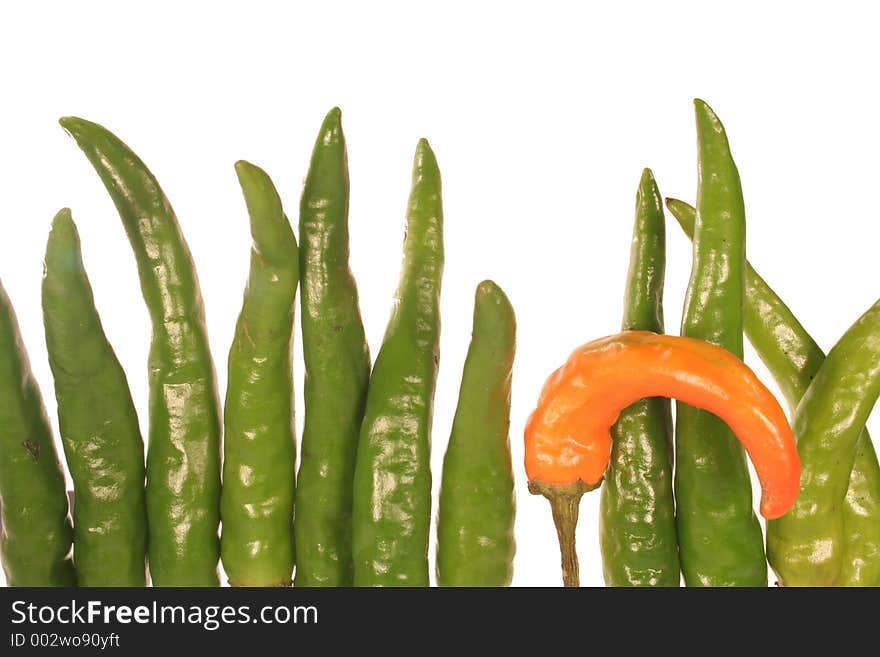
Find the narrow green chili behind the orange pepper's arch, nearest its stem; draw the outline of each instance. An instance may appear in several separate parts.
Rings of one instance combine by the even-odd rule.
[[[622,330],[663,332],[665,270],[663,200],[645,169],[636,195]],[[611,462],[599,498],[607,586],[679,585],[672,436],[670,402],[663,397],[624,409],[611,429]]]

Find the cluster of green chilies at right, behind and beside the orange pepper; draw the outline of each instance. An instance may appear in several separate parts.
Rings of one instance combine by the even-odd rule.
[[[666,203],[693,241],[681,335],[740,358],[743,334],[749,339],[791,408],[800,491],[788,513],[768,522],[765,556],[744,453],[730,429],[679,402],[673,440],[667,400],[642,400],[613,428],[601,494],[605,581],[678,586],[681,572],[687,586],[764,586],[769,561],[785,586],[878,586],[880,465],[865,422],[880,395],[880,300],[826,358],[746,261],[743,196],[727,136],[708,105],[695,105],[696,208]],[[624,330],[663,331],[664,231],[646,170]]]

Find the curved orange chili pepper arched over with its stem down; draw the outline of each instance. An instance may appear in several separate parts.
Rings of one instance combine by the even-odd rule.
[[[605,474],[611,425],[644,397],[674,397],[723,420],[758,473],[764,517],[778,518],[797,496],[800,463],[785,413],[736,356],[702,340],[649,331],[589,342],[544,384],[525,430],[529,490],[546,496],[558,516],[567,585],[577,583],[577,503]]]

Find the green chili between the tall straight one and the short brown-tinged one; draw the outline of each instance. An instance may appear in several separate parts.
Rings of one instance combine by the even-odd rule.
[[[440,170],[422,139],[400,283],[367,393],[354,475],[355,586],[427,586],[431,420],[440,360]]]

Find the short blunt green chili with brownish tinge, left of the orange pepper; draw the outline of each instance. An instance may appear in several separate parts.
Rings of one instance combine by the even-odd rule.
[[[440,586],[508,586],[515,515],[510,386],[516,317],[492,281],[477,286],[474,327],[443,459],[437,521]]]

